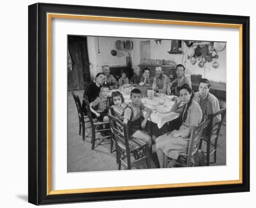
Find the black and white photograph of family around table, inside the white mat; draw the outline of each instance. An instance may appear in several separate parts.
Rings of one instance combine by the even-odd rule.
[[[67,172],[226,165],[226,48],[67,35]]]

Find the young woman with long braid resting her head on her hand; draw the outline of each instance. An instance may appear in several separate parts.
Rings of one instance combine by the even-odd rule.
[[[193,126],[202,121],[202,110],[200,105],[193,100],[194,94],[188,84],[183,84],[177,90],[180,96],[173,105],[171,111],[181,113],[182,125],[179,130],[168,132],[155,140],[155,150],[160,164],[163,168],[164,155],[177,159],[180,151],[187,151],[189,136]],[[180,104],[183,103],[183,106]]]

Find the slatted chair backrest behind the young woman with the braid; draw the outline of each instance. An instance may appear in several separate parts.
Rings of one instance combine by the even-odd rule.
[[[198,125],[194,126],[191,130],[190,138],[189,138],[189,149],[188,149],[188,157],[187,157],[187,166],[196,166],[198,160],[198,150],[200,145],[200,140],[202,136],[202,130],[205,127],[206,119]],[[192,163],[192,159],[194,159],[194,163]]]

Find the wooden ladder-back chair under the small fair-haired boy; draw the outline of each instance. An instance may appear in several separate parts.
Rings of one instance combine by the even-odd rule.
[[[97,132],[106,132],[106,131],[110,131],[110,129],[98,129],[102,124],[108,124],[109,122],[108,121],[104,121],[104,122],[100,122],[100,121],[95,121],[92,117],[92,113],[91,113],[91,110],[90,110],[90,104],[89,104],[89,101],[86,100],[87,96],[84,97],[83,99],[83,106],[86,106],[86,110],[87,110],[87,113],[88,113],[88,117],[89,117],[89,120],[90,120],[90,123],[91,123],[91,127],[92,127],[92,139],[91,139],[91,143],[92,143],[92,150],[94,150],[94,147],[95,147],[95,141],[96,140],[99,140],[99,139],[108,139],[111,137],[111,135],[108,135],[108,136],[100,136],[100,137],[97,137],[96,138],[96,133]],[[110,143],[111,143],[111,146],[113,146],[113,140],[110,139]]]

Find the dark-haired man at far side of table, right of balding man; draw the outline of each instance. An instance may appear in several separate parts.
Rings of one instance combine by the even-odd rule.
[[[190,88],[191,87],[191,81],[189,78],[186,78],[184,76],[185,74],[185,67],[182,64],[178,64],[176,66],[176,74],[177,78],[173,80],[172,83],[168,83],[167,87],[167,94],[168,95],[176,95],[179,96],[179,92],[177,91],[177,87],[182,86],[183,84],[189,84]]]

